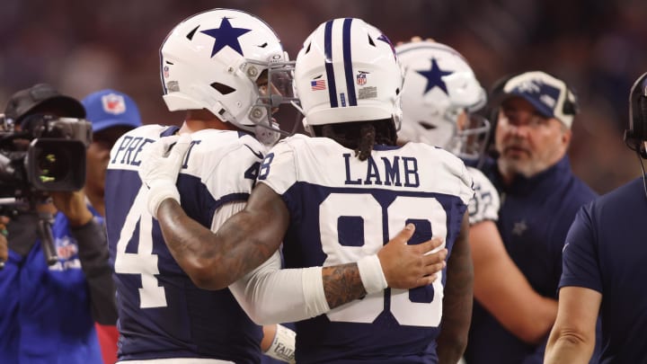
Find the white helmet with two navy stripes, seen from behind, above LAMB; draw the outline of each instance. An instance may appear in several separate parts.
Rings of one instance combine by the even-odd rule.
[[[400,128],[402,68],[376,27],[353,18],[323,22],[304,42],[295,65],[295,94],[304,126],[393,119]]]

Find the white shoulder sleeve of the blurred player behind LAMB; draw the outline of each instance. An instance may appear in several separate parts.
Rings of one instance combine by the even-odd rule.
[[[474,182],[474,199],[468,205],[470,225],[484,220],[498,220],[501,208],[499,192],[483,172],[473,167],[467,167],[467,171]]]

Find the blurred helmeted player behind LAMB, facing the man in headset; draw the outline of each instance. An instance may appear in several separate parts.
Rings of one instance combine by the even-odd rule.
[[[412,41],[395,50],[404,69],[403,126],[398,141],[441,146],[467,164],[479,164],[490,123],[476,114],[487,94],[465,58],[445,44]],[[524,342],[545,339],[557,301],[530,287],[512,262],[496,226],[500,200],[492,182],[474,167],[469,203],[469,241],[474,262],[474,298]]]

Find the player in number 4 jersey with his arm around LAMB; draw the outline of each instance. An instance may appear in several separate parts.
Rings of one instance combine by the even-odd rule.
[[[120,309],[120,361],[256,363],[261,360],[261,327],[249,316],[259,322],[278,323],[328,310],[321,267],[279,271],[277,249],[259,248],[248,255],[239,255],[235,248],[223,245],[227,248],[226,256],[233,258],[236,266],[254,261],[261,253],[267,255],[256,266],[264,264],[250,276],[238,280],[243,276],[240,275],[225,284],[207,287],[201,284],[200,277],[186,269],[182,256],[166,248],[155,214],[149,213],[155,209],[146,201],[163,200],[167,196],[180,200],[182,196],[182,208],[207,232],[217,231],[226,218],[243,209],[266,146],[279,136],[271,113],[280,102],[290,100],[291,86],[281,84],[289,79],[288,58],[265,22],[249,13],[226,9],[199,13],[178,24],[164,40],[160,57],[164,102],[170,111],[186,111],[186,120],[180,129],[146,125],[120,138],[111,150],[106,182],[108,235]],[[137,172],[151,172],[140,166],[142,150],[178,131],[182,138],[173,153],[177,155],[182,146],[191,146],[186,156],[178,158],[177,168],[183,165],[182,175],[177,178],[174,170],[171,183],[142,184]],[[169,171],[153,168],[157,173]],[[282,226],[280,220],[270,218],[250,227],[260,231],[263,226],[275,224]],[[237,231],[236,236],[242,233],[244,229]],[[411,252],[412,259],[398,255],[392,260],[394,264],[410,262],[413,266],[422,260],[435,261],[430,271],[418,267],[420,272],[413,283],[424,285],[433,279],[425,276],[442,265],[444,253],[423,257],[422,253],[436,244],[407,247],[403,244],[407,235],[409,231],[395,239],[392,246],[396,253],[403,252],[405,247],[411,248],[406,252]],[[249,237],[254,236],[250,233]],[[208,244],[205,239],[192,242],[208,248],[202,246]],[[174,258],[178,257],[176,262]],[[221,268],[209,265],[206,258],[192,262],[206,271]],[[224,265],[222,268],[236,271],[237,267]],[[347,274],[353,278],[351,288],[359,292],[359,297],[365,294],[362,278],[369,287],[370,284],[382,287],[385,280],[393,279],[388,269],[384,274],[379,270],[379,261],[377,268],[372,280],[367,274],[359,274],[357,264],[333,267],[329,275]],[[270,280],[277,288],[248,289],[247,284],[253,280]],[[201,289],[193,282],[201,288],[216,290]],[[339,284],[333,288],[345,287],[339,280],[334,282]],[[346,293],[347,289],[341,292]],[[250,303],[255,297],[265,296],[280,300],[275,304],[280,308],[280,315],[271,320],[263,312],[274,306]],[[340,305],[350,298],[332,296],[332,299]],[[277,338],[270,339],[270,353],[292,360],[294,335],[279,327]]]

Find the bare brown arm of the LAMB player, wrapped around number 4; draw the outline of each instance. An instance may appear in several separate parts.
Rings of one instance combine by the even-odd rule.
[[[166,199],[157,209],[164,241],[193,282],[202,289],[224,289],[267,261],[288,228],[283,200],[252,193],[247,206],[212,233]]]

